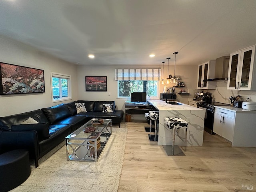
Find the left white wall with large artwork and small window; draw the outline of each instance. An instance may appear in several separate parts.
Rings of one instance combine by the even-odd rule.
[[[76,66],[56,59],[38,50],[0,36],[0,62],[44,70],[45,93],[0,95],[0,116],[8,116],[28,112],[40,108],[54,106],[62,102],[52,103],[50,71],[70,74],[72,78],[72,100],[77,100]],[[66,102],[71,102],[68,100]]]

